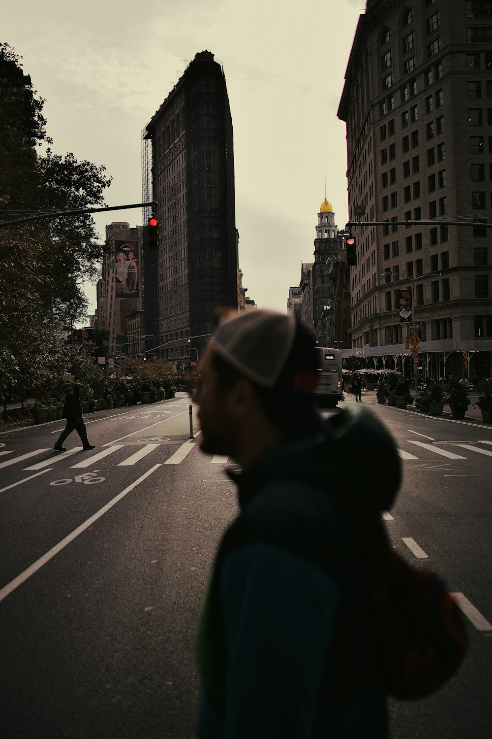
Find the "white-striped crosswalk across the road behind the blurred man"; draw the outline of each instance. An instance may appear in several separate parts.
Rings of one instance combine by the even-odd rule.
[[[424,462],[435,459],[435,457],[447,457],[449,460],[467,460],[475,457],[477,454],[492,457],[492,440],[477,440],[471,443],[452,442],[446,443],[446,445],[443,444],[443,446],[437,446],[437,444],[438,442],[426,443],[415,439],[408,439],[405,442],[405,446],[411,446],[407,446],[406,449],[398,447],[398,454],[400,454],[402,460],[421,460]],[[69,465],[69,467],[70,469],[86,469],[99,463],[101,460],[108,460],[117,467],[131,467],[145,460],[150,454],[154,455],[154,459],[151,461],[155,462],[158,449],[170,449],[169,446],[164,446],[162,443],[142,442],[142,446],[134,451],[135,446],[135,443],[110,444],[95,454],[91,454],[89,457],[84,457],[83,459],[76,457],[77,461],[75,464]],[[182,443],[170,457],[164,460],[163,464],[178,465],[183,463],[190,452],[195,449],[195,446],[197,446],[198,451],[198,445],[194,442],[187,441]],[[47,459],[44,458],[41,461],[35,461],[35,457],[41,457],[41,455],[46,457],[46,452],[52,452],[52,449],[35,449],[32,452],[26,452],[24,454],[15,454],[15,449],[2,449],[0,451],[0,470],[5,467],[13,465],[22,466],[23,463],[27,463],[27,466],[22,466],[21,469],[24,471],[37,471],[45,467],[60,464],[65,460],[72,461],[69,458],[78,452],[82,452],[82,447],[75,446],[73,449],[68,449],[61,454],[50,454]],[[13,456],[10,457],[10,454]],[[209,458],[209,463],[214,465],[225,465],[228,461],[229,457],[218,454]]]

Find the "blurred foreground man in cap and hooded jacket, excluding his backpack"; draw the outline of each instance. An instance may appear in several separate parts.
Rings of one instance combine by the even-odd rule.
[[[384,535],[400,460],[360,406],[324,420],[316,381],[308,333],[265,310],[224,321],[202,361],[201,449],[242,471],[198,629],[199,739],[387,737],[359,547]]]

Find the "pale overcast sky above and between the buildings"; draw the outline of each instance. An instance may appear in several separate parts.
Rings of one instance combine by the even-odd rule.
[[[141,202],[141,131],[196,52],[224,66],[234,126],[243,285],[285,312],[311,262],[326,194],[347,222],[345,125],[336,118],[364,0],[24,0],[4,3],[1,41],[46,99],[56,154],[103,164],[106,205]],[[142,211],[95,217],[142,222]],[[87,287],[91,312],[95,287]]]

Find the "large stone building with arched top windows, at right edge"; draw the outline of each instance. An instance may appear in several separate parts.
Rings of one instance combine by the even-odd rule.
[[[354,353],[378,367],[403,366],[406,294],[424,374],[468,369],[464,350],[491,374],[491,43],[490,2],[367,0],[359,17],[338,115],[350,220],[386,222],[354,231],[351,270]]]

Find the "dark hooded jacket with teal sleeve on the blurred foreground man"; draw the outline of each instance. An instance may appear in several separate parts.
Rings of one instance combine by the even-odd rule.
[[[198,630],[199,739],[387,736],[359,535],[384,536],[401,462],[370,412],[330,420],[232,475],[240,514]]]

